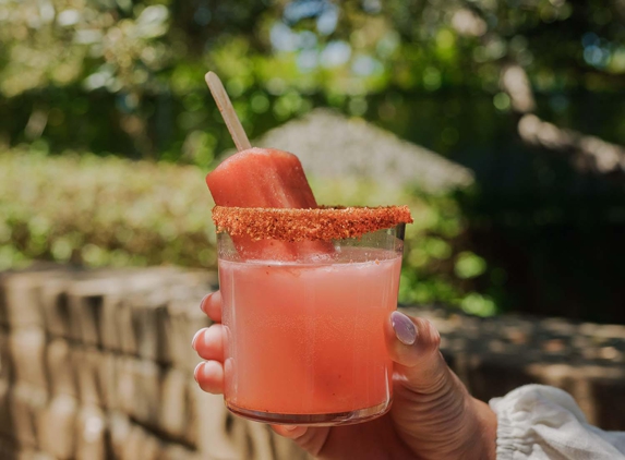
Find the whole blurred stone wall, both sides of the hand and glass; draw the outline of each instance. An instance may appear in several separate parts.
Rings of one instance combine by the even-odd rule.
[[[215,286],[175,268],[0,274],[0,459],[305,459],[196,387],[190,343]],[[435,323],[477,397],[555,385],[625,429],[625,326],[407,311]]]

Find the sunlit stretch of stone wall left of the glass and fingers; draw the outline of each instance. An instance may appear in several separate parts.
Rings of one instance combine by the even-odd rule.
[[[0,459],[305,458],[193,379],[212,274],[0,275]]]

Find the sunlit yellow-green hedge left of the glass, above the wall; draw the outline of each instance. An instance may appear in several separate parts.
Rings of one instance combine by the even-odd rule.
[[[213,203],[194,167],[92,155],[0,155],[0,268],[215,265]]]

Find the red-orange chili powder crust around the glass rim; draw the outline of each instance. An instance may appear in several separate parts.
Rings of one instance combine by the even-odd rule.
[[[217,232],[252,240],[330,241],[412,223],[408,206],[322,206],[318,208],[247,208],[215,206]]]

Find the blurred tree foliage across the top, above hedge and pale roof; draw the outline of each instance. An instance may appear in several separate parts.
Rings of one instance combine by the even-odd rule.
[[[570,106],[623,89],[624,10],[622,0],[5,0],[0,143],[206,165],[231,145],[204,84],[211,69],[252,137],[332,106],[474,166],[458,149],[493,148],[510,110],[498,85],[507,64],[545,96],[543,117],[588,128],[586,108]],[[594,134],[625,143],[622,118],[594,111]]]

